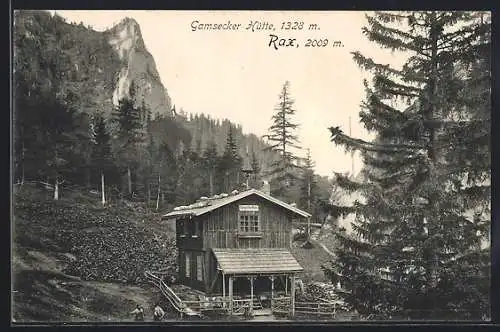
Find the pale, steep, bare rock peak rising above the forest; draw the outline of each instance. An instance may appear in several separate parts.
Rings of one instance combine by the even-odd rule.
[[[136,103],[143,101],[152,115],[171,115],[171,100],[161,83],[153,56],[142,39],[139,24],[130,18],[104,32],[109,44],[118,54],[122,67],[113,91],[113,104],[129,96],[133,82],[136,86]]]

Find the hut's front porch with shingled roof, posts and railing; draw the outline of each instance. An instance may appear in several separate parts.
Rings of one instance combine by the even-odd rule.
[[[295,314],[295,278],[303,268],[285,249],[213,249],[230,315]]]

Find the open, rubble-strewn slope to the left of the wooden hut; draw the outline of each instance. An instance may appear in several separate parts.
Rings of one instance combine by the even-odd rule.
[[[122,321],[159,294],[145,270],[176,274],[171,225],[126,204],[103,208],[90,194],[53,201],[42,187],[15,188],[13,318],[16,321]]]

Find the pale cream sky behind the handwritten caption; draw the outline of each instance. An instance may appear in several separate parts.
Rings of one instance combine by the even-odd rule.
[[[340,126],[355,137],[370,139],[359,111],[365,92],[363,72],[350,52],[360,51],[384,64],[400,67],[402,57],[381,49],[362,34],[365,13],[358,11],[57,11],[69,22],[102,31],[125,17],[140,26],[161,81],[176,109],[210,114],[241,124],[243,132],[268,132],[285,81],[297,110],[293,120],[305,155],[310,149],[315,170],[323,176],[351,172],[352,158],[330,141],[328,127]],[[192,31],[192,22],[241,24],[239,30]],[[246,30],[250,22],[275,30]],[[281,30],[282,22],[304,22],[302,30]],[[316,26],[310,26],[315,24]],[[292,23],[293,26],[293,23]],[[298,26],[298,24],[296,25]],[[257,25],[254,25],[257,27]],[[309,29],[311,27],[311,29]],[[270,34],[295,38],[299,47],[269,47]],[[328,39],[326,47],[305,47],[307,39]],[[342,47],[334,47],[341,41]],[[285,43],[286,43],[285,42]],[[354,172],[362,167],[354,157]]]

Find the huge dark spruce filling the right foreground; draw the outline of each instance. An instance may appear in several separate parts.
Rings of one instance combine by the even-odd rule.
[[[366,181],[338,175],[364,201],[352,208],[353,233],[336,233],[325,272],[363,316],[480,319],[489,310],[490,23],[467,12],[367,20],[369,40],[409,57],[396,69],[353,53],[374,74],[360,118],[376,139],[330,128],[335,144],[361,152]]]

